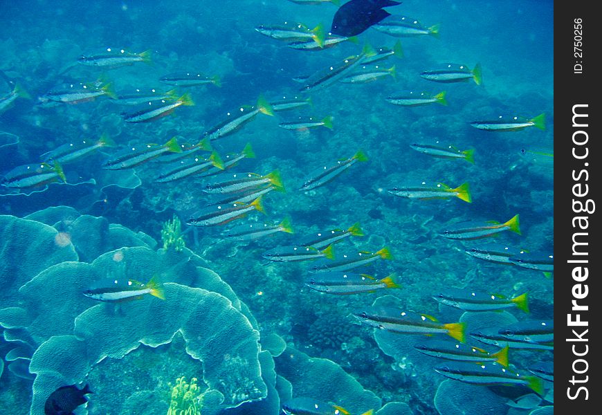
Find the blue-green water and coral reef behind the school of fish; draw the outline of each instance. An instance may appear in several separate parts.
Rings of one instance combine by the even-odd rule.
[[[370,409],[381,415],[553,412],[549,380],[534,394],[526,385],[448,379],[433,369],[441,360],[416,346],[434,338],[453,342],[450,336],[391,333],[353,315],[376,305],[441,323],[464,322],[467,344],[487,353],[500,348],[469,333],[552,319],[550,275],[465,252],[491,242],[541,255],[553,250],[552,1],[403,1],[387,10],[426,27],[439,24],[437,35],[396,38],[370,28],[322,50],[295,50],[255,28],[286,21],[323,24],[328,31],[338,7],[329,2],[0,3],[0,96],[6,104],[0,110],[0,412],[44,414],[55,389],[86,384],[93,394],[76,414],[270,415],[296,397],[340,405],[353,415]],[[379,62],[394,66],[395,76],[309,92],[293,80],[361,54],[365,44],[393,48],[398,40],[403,56]],[[78,61],[107,48],[149,51],[150,62],[102,67]],[[420,76],[446,62],[479,64],[482,82],[437,83]],[[172,86],[160,80],[181,71],[202,73],[208,82]],[[83,86],[102,92],[76,102],[54,98]],[[146,104],[124,105],[118,98],[136,89],[175,89],[174,97],[189,94],[194,105],[181,104],[150,122],[127,122]],[[387,102],[401,91],[445,91],[447,104]],[[194,145],[244,106],[284,97],[305,104],[273,116],[257,113],[211,141],[211,151],[223,160],[248,144],[254,154],[214,176],[158,183],[173,156],[166,150],[133,168],[103,168],[136,146],[160,148],[173,137]],[[532,120],[541,113],[545,129],[496,132],[471,125],[498,116]],[[279,126],[309,117],[331,117],[332,126]],[[39,165],[62,145],[103,136],[110,146],[98,145],[60,167],[45,165],[62,169],[64,180],[55,175],[53,183],[10,185],[13,169]],[[410,147],[414,143],[453,146],[459,154],[474,149],[474,163],[421,154]],[[367,160],[353,159],[358,152]],[[353,165],[334,180],[300,190],[322,165],[350,159]],[[265,214],[250,212],[215,226],[186,223],[215,200],[203,192],[206,185],[235,172],[274,171],[284,192],[262,196]],[[471,203],[453,196],[404,199],[387,191],[436,183],[469,183]],[[232,201],[238,202],[236,196]],[[468,241],[439,235],[450,224],[504,224],[516,214],[520,234]],[[232,226],[277,225],[287,217],[293,233],[253,241],[228,237]],[[329,259],[264,257],[355,223],[361,232],[332,246],[335,260],[358,252],[378,257],[387,248],[390,255],[354,272],[374,281],[395,275],[399,287],[320,293],[305,283],[311,266]],[[141,295],[115,304],[83,295],[107,278],[147,283],[153,277],[165,299]],[[516,307],[463,311],[432,298],[448,288],[507,298],[529,293],[529,313]],[[509,361],[521,376],[531,376],[528,369],[553,361],[553,352],[511,347]]]

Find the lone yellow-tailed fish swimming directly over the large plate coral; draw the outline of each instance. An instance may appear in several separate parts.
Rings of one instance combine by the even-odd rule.
[[[105,278],[94,282],[84,293],[86,297],[104,302],[121,302],[130,299],[142,299],[150,294],[165,299],[163,285],[156,277],[144,284],[134,279]]]

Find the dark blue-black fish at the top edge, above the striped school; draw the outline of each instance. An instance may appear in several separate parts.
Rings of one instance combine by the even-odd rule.
[[[340,36],[355,36],[364,30],[377,24],[389,12],[382,10],[383,7],[397,6],[399,1],[393,0],[351,0],[340,6],[332,19],[330,33]]]

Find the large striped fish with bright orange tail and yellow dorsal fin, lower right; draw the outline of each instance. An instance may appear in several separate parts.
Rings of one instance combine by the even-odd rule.
[[[354,311],[353,316],[367,326],[391,333],[434,335],[438,333],[464,343],[466,323],[440,323],[427,314],[403,311],[399,308],[366,306]]]

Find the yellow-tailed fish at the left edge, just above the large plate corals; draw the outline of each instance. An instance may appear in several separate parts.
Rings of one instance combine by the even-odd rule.
[[[57,181],[66,183],[67,179],[62,166],[55,161],[52,165],[33,163],[17,166],[2,176],[0,185],[9,189],[21,190],[42,187]]]

